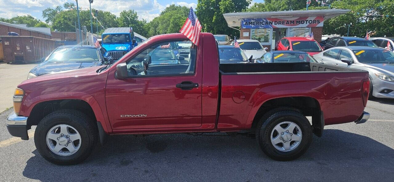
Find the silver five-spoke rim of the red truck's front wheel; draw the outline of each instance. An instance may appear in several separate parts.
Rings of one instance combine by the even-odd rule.
[[[59,156],[69,156],[81,147],[81,136],[72,126],[59,124],[46,134],[46,145]]]

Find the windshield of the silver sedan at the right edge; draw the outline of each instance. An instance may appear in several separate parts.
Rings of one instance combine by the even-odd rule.
[[[353,50],[361,63],[394,63],[394,53],[389,50]]]

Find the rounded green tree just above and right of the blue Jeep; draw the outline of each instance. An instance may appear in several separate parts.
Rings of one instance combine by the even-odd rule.
[[[137,12],[132,9],[123,10],[116,21],[120,27],[132,27],[134,32],[143,36],[148,35],[149,29],[145,29],[145,24],[147,24],[147,21],[144,19],[138,20]]]

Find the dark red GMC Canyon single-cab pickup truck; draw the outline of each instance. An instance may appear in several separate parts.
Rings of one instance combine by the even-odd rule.
[[[172,43],[189,45],[190,58],[177,63]],[[153,58],[173,63],[150,65]],[[325,125],[367,121],[369,85],[367,71],[335,65],[219,65],[211,33],[200,33],[198,46],[180,33],[165,34],[112,65],[23,81],[7,129],[27,140],[37,125],[37,150],[58,165],[82,162],[108,135],[244,130],[255,133],[267,156],[286,161],[305,153]]]

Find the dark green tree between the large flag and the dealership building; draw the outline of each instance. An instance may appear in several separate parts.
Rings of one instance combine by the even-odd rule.
[[[227,26],[223,13],[241,12],[251,0],[198,0],[196,15],[203,26],[203,32],[238,35],[238,31]]]

